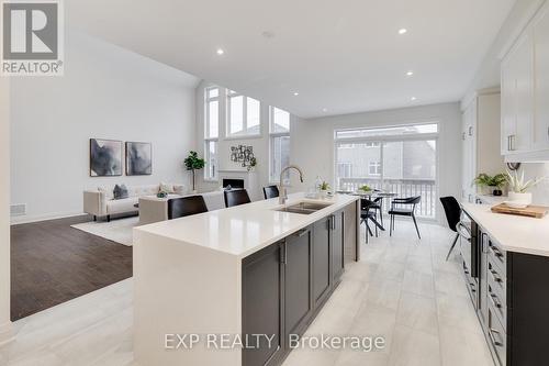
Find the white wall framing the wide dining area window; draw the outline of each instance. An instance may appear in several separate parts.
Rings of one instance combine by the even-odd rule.
[[[334,115],[303,120],[292,125],[291,162],[303,168],[304,184],[293,177],[293,190],[313,187],[317,175],[334,181],[334,130],[439,122],[439,195],[460,197],[461,112],[459,103],[433,104],[386,111]],[[440,210],[439,210],[440,211]]]

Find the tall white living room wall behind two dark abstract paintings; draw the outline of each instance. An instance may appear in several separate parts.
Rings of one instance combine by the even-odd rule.
[[[80,213],[82,190],[101,185],[188,184],[198,79],[72,30],[65,49],[65,76],[12,82],[11,203],[27,204],[18,219]],[[90,137],[152,142],[153,175],[91,178]]]

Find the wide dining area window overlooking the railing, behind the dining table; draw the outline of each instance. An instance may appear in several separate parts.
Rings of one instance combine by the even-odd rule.
[[[437,138],[437,123],[335,131],[336,187],[354,191],[368,185],[399,197],[422,196],[417,214],[434,219]]]

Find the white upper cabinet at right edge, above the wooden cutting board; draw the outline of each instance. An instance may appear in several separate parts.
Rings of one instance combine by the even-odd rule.
[[[502,154],[549,160],[549,2],[502,60]]]

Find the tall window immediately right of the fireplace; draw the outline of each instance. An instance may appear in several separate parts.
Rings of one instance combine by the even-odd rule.
[[[290,113],[276,107],[269,108],[269,180],[278,182],[282,168],[290,165]],[[284,179],[289,180],[289,174]]]

